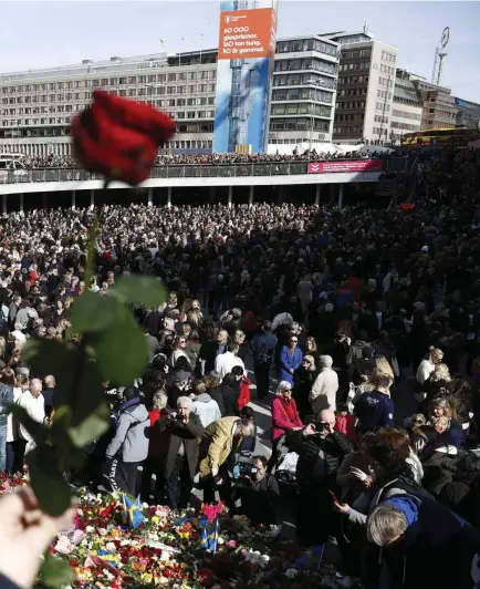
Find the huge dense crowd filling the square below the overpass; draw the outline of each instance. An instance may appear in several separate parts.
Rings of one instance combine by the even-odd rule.
[[[0,471],[34,445],[8,404],[36,422],[55,411],[54,375],[22,362],[27,339],[67,338],[75,297],[153,275],[168,300],[134,311],[149,364],[131,386],[105,384],[112,428],[72,484],[174,509],[196,488],[255,524],[294,502],[298,541],[334,538],[363,587],[472,587],[479,154],[429,154],[409,210],[104,207],[88,285],[94,210],[3,215]],[[271,456],[252,401],[271,411]]]

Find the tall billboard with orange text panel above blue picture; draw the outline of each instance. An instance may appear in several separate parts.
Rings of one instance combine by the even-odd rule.
[[[222,0],[213,152],[263,153],[276,45],[278,0]]]

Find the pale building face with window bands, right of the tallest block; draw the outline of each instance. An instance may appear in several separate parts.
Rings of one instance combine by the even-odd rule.
[[[424,106],[415,84],[410,81],[406,70],[398,69],[395,78],[394,102],[392,105],[390,136],[394,143],[399,143],[401,135],[414,133],[421,128]]]

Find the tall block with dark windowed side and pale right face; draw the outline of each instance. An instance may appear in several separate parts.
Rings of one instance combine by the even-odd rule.
[[[341,46],[333,140],[389,140],[397,48],[362,32],[322,33]]]

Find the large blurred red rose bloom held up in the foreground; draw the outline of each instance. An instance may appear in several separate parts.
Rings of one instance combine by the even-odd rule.
[[[95,90],[92,105],[72,122],[75,155],[90,172],[136,186],[148,177],[175,121],[147,104]]]

